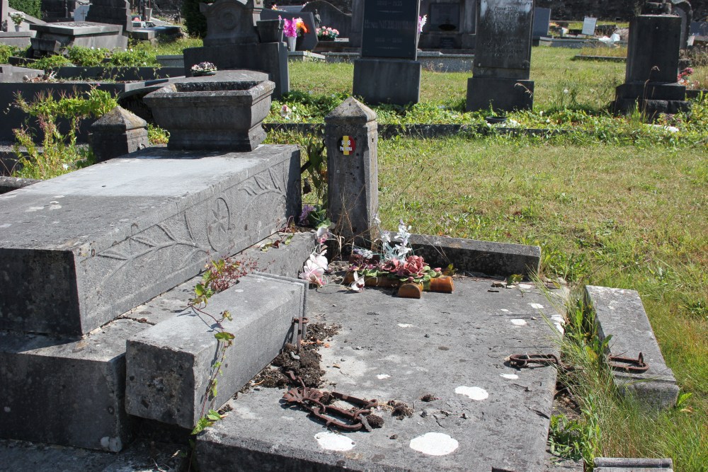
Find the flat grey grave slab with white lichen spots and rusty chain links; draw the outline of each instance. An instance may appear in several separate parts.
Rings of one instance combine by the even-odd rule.
[[[341,325],[329,347],[319,348],[323,388],[381,404],[403,401],[412,417],[396,420],[383,410],[382,429],[335,434],[282,403],[283,390],[251,389],[229,401],[227,418],[198,437],[200,467],[543,470],[556,371],[513,369],[505,359],[554,352],[559,333],[544,315],[561,315],[529,284],[490,288],[490,280],[457,279],[453,294],[426,292],[415,301],[390,289],[311,290],[310,323]],[[437,399],[421,401],[428,393]],[[436,436],[444,442],[436,444]]]

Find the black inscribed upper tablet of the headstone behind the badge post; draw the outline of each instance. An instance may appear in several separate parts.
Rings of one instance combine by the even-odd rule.
[[[365,0],[361,57],[418,57],[418,1]]]

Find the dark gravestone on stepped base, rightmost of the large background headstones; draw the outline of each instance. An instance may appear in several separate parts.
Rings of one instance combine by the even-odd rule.
[[[688,110],[685,86],[677,83],[681,18],[639,15],[629,22],[624,84],[617,87],[615,113],[638,109],[645,120]]]

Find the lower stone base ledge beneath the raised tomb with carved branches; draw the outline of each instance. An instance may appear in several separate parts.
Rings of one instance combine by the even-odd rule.
[[[258,261],[260,270],[297,276],[312,250],[312,231],[261,251],[287,236],[270,236],[235,257]],[[0,437],[120,450],[133,430],[124,405],[126,341],[183,312],[200,280],[193,277],[82,340],[0,331]]]

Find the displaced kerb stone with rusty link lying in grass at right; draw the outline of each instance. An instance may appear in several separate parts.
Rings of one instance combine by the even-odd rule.
[[[586,301],[595,311],[600,339],[612,335],[610,355],[632,357],[639,352],[649,369],[642,374],[613,371],[615,384],[650,408],[670,408],[678,398],[673,371],[666,366],[636,290],[588,285]]]

